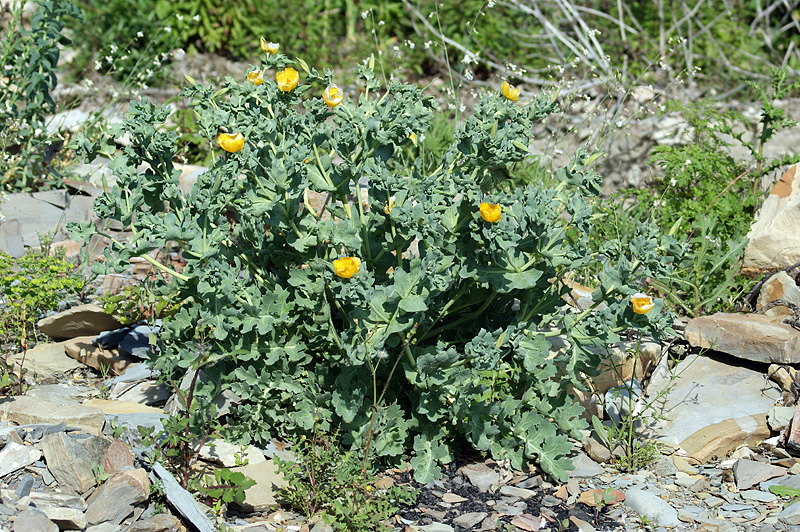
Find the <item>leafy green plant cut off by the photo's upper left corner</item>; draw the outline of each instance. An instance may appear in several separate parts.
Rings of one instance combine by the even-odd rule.
[[[56,110],[59,45],[67,18],[80,18],[68,0],[39,1],[30,28],[21,21],[22,2],[8,18],[0,13],[0,189],[31,191],[56,187],[54,168],[63,139],[47,132],[46,117]]]

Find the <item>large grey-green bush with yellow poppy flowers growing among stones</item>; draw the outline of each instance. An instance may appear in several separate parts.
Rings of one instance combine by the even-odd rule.
[[[93,267],[121,271],[142,256],[170,273],[160,290],[183,303],[165,318],[155,366],[177,380],[196,360],[197,331],[210,331],[213,363],[198,396],[238,394],[229,430],[245,442],[340,429],[368,458],[410,453],[420,481],[460,445],[566,479],[567,435],[586,426],[568,387],[598,366],[589,347],[628,327],[669,330],[661,300],[637,314],[630,298],[640,279],[669,273],[676,257],[664,252],[680,246],[641,224],[626,247],[592,256],[588,198],[600,178],[583,150],[555,187],[509,186],[533,123],[556,110],[547,94],[525,105],[482,98],[423,171],[425,154],[408,160],[405,148],[426,133],[431,98],[397,81],[382,87],[368,60],[358,99],[329,108],[320,95],[331,72],[299,62],[304,79],[292,88],[284,71],[282,90],[272,72],[289,64],[265,55],[263,84],[228,78],[184,90],[200,134],[230,152],[185,198],[177,135],[158,127],[168,108],[133,102],[112,126],[132,145],[114,156],[117,185],[95,207],[133,236]],[[112,142],[83,150],[92,158]],[[311,191],[331,204],[314,205]],[[95,231],[71,229],[84,239]],[[164,245],[183,250],[183,273],[150,258]],[[592,309],[563,312],[559,280],[601,260]],[[558,334],[570,347],[551,358],[547,338]]]

